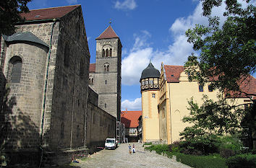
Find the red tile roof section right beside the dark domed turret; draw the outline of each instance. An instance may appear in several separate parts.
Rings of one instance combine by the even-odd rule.
[[[166,66],[164,65],[164,70],[166,71],[167,82],[179,82],[179,76],[184,71],[184,66]]]

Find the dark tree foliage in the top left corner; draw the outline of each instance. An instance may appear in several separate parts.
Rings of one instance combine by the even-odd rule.
[[[20,13],[29,12],[27,3],[31,0],[1,0],[0,1],[0,35],[14,32],[17,22],[24,22]]]

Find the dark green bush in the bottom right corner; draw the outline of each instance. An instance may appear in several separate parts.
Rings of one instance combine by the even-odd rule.
[[[256,167],[256,155],[255,154],[240,154],[231,156],[226,160],[226,164],[229,168],[254,168]]]

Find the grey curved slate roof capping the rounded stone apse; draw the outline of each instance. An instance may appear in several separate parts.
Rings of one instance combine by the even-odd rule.
[[[48,44],[44,43],[43,40],[40,40],[40,38],[36,37],[32,32],[16,32],[10,36],[3,35],[3,37],[7,42],[28,41],[49,47]]]

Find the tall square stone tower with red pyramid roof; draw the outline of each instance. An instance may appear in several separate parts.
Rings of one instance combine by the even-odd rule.
[[[98,107],[120,120],[121,41],[109,25],[96,38],[95,86]]]

